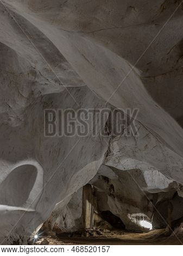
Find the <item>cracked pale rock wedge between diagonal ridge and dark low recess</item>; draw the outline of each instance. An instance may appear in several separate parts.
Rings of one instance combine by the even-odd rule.
[[[162,143],[159,137],[155,137],[151,129],[138,122],[135,126],[138,136],[133,134],[129,136],[124,130],[122,136],[111,138],[104,163],[121,170],[142,169],[146,172],[159,170],[167,178],[182,184],[182,157]],[[158,179],[157,175],[157,180],[152,182],[155,184],[161,182]]]

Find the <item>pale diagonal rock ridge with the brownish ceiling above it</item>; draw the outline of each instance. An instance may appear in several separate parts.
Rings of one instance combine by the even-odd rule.
[[[166,4],[163,1],[162,3],[155,1],[153,6],[150,7],[152,13],[151,22],[147,15],[147,12],[149,12],[147,4],[137,4],[135,6],[134,3],[134,5],[128,6],[128,1],[125,1],[123,4],[118,1],[115,4],[115,8],[112,8],[111,15],[106,12],[106,10],[109,10],[109,6],[106,5],[105,1],[101,0],[99,4],[92,3],[93,8],[97,8],[97,10],[99,8],[96,18],[98,15],[105,17],[101,22],[99,22],[100,19],[96,22],[96,19],[91,18],[90,12],[93,8],[89,8],[89,5],[83,7],[83,4],[80,4],[78,0],[74,2],[63,1],[61,3],[56,0],[53,5],[48,1],[45,2],[42,0],[36,3],[35,1],[18,1],[17,3],[17,1],[6,0],[2,8],[4,8],[4,15],[10,12],[13,20],[16,21],[18,17],[21,17],[21,19],[31,23],[29,27],[34,26],[45,34],[73,66],[74,70],[77,71],[87,86],[106,101],[109,101],[117,108],[139,108],[138,120],[152,129],[154,134],[157,133],[163,141],[166,141],[169,148],[173,148],[176,153],[182,156],[183,142],[181,127],[158,105],[160,102],[157,103],[154,101],[159,101],[157,99],[159,97],[159,87],[154,87],[154,93],[152,93],[152,89],[149,89],[147,93],[146,87],[148,88],[148,80],[146,80],[147,86],[146,83],[143,84],[141,81],[141,78],[144,76],[161,75],[167,71],[174,70],[175,67],[175,69],[181,69],[182,67],[182,38],[180,33],[178,33],[179,26],[181,26],[182,22],[182,8],[181,6],[178,8],[179,4],[174,1],[169,1]],[[128,26],[126,25],[128,19],[119,19],[119,10],[122,10],[123,17],[127,16],[129,18]],[[135,13],[137,11],[138,16],[141,17],[143,22],[141,20],[138,23],[137,20],[139,18],[134,20],[133,11]],[[174,11],[175,14],[172,17]],[[67,12],[72,13],[72,19],[70,15],[66,17]],[[55,13],[59,15],[56,16]],[[78,13],[80,13],[79,16]],[[16,17],[17,15],[18,17]],[[115,22],[116,15],[119,19],[116,22],[120,22],[121,24],[119,23],[117,25]],[[68,22],[68,17],[70,22]],[[88,25],[89,20],[90,25]],[[20,24],[18,21],[17,23]],[[115,25],[106,26],[109,23]],[[166,23],[168,23],[167,26],[165,26]],[[7,24],[8,22],[6,22]],[[68,24],[70,24],[70,29],[67,28]],[[97,24],[98,26],[105,24],[105,27],[99,27],[91,31],[88,30],[88,26],[95,27]],[[84,29],[83,26],[85,27]],[[75,29],[76,27],[77,29]],[[109,29],[111,27],[112,29]],[[27,39],[27,34],[24,34],[25,30],[23,27],[21,26],[20,28],[18,26],[18,29],[21,35]],[[173,32],[171,33],[171,38],[169,31]],[[145,34],[146,36],[144,36]],[[167,36],[168,44],[166,43]],[[7,36],[4,35],[4,38],[7,38]],[[127,50],[128,48],[129,50]],[[170,57],[168,53],[171,54]],[[174,58],[172,58],[173,53]],[[138,59],[140,59],[138,62],[135,61]],[[133,64],[136,64],[137,70],[140,71],[139,74],[136,69],[131,68]],[[147,64],[151,65],[153,74],[150,74],[150,68]],[[172,66],[174,67],[173,69]],[[173,74],[173,76],[176,77],[177,74]],[[179,74],[178,76],[180,77]],[[119,86],[121,83],[122,86]],[[150,83],[152,83],[151,77]],[[166,83],[167,80],[165,79],[165,83],[163,84],[166,86]],[[172,80],[169,80],[169,83],[168,87],[174,88],[174,82],[172,83]],[[178,93],[179,87],[181,87],[181,84],[176,80],[174,100],[178,103],[178,106],[173,106],[173,109],[171,107],[169,108],[168,99],[171,99],[172,89],[168,90],[169,94],[166,90],[166,95],[164,96],[166,100],[163,100],[164,103],[162,106],[165,107],[166,111],[171,112],[173,118],[178,118],[179,123],[181,123],[182,113],[177,110],[182,108],[181,96]],[[163,94],[164,92],[161,90],[161,93]],[[154,100],[152,96],[154,96]],[[133,98],[132,101],[131,97]],[[178,101],[176,100],[177,97],[179,98]]]

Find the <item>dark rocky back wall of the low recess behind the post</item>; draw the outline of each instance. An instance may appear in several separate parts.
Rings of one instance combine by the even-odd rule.
[[[93,225],[96,228],[115,228],[104,218],[103,213],[109,211],[121,219],[125,229],[136,231],[147,231],[142,225],[143,221],[152,223],[153,228],[166,228],[169,203],[172,223],[183,215],[180,207],[183,199],[178,196],[175,182],[157,170],[131,169],[124,172],[102,165],[90,184],[93,187]],[[48,220],[49,229],[61,232],[81,230],[81,202],[80,188],[65,208],[55,206]]]

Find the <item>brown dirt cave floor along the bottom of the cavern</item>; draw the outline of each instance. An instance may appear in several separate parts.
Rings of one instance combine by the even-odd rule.
[[[165,229],[148,233],[102,232],[96,234],[57,234],[44,236],[36,245],[183,245],[183,236],[169,235]]]

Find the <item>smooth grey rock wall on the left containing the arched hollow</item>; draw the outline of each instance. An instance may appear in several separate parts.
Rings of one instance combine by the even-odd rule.
[[[81,108],[103,107],[87,87],[69,90]],[[9,243],[5,235],[20,234],[27,239],[47,220],[56,204],[66,205],[67,198],[93,178],[104,161],[108,139],[104,142],[102,137],[94,138],[91,131],[86,137],[44,136],[44,108],[71,106],[78,109],[66,91],[46,95],[35,99],[34,105],[24,111],[20,125],[1,125],[4,147],[1,148],[0,203],[4,206],[0,209],[0,237],[3,243]]]

